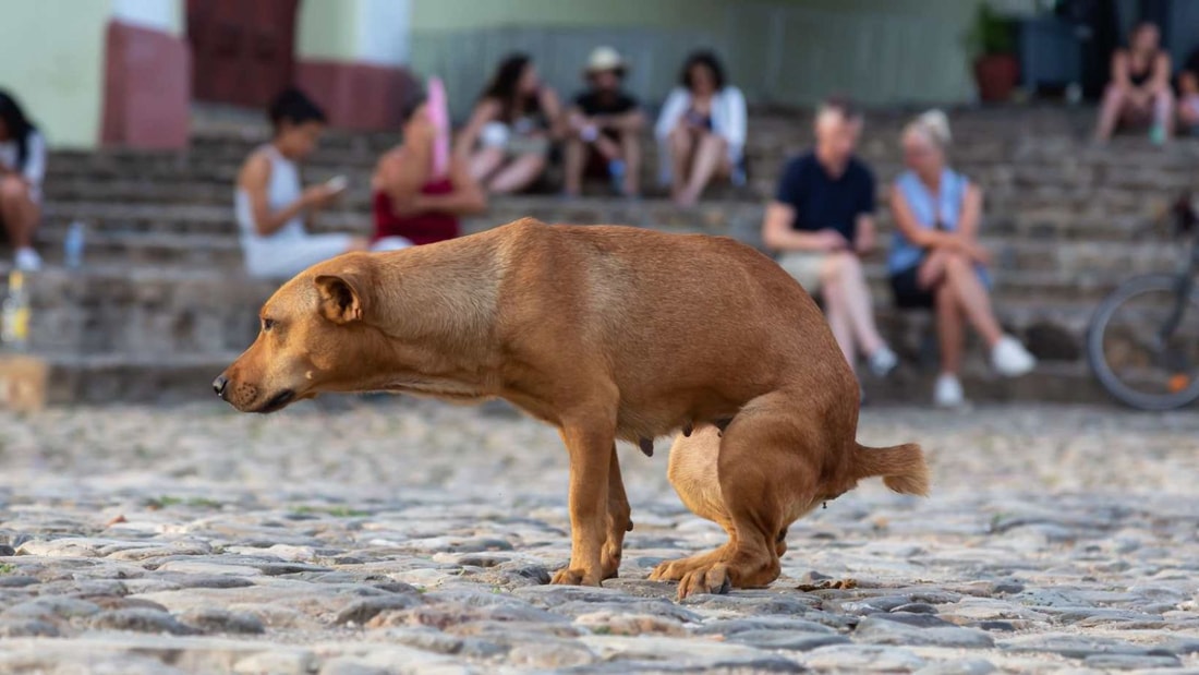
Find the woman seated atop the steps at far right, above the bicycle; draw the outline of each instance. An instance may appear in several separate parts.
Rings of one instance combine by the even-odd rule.
[[[1150,22],[1138,24],[1127,49],[1111,55],[1111,82],[1103,94],[1097,140],[1108,140],[1120,122],[1152,122],[1150,138],[1164,143],[1174,134],[1174,90],[1170,55],[1161,48],[1161,32]]]

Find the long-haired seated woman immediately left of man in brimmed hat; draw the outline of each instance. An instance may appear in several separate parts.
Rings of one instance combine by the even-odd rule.
[[[546,173],[550,144],[561,138],[562,107],[537,79],[525,54],[500,62],[458,137],[456,153],[492,194],[520,192]]]

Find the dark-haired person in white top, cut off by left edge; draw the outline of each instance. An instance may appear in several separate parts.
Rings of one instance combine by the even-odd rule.
[[[17,252],[18,270],[41,269],[34,230],[42,217],[46,141],[20,104],[0,90],[0,222]]]

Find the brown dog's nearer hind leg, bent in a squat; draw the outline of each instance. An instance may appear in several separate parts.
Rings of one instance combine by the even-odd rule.
[[[794,392],[778,391],[747,404],[724,430],[717,457],[729,543],[697,559],[679,580],[679,597],[760,587],[778,578],[781,532],[815,498],[818,469],[811,465],[824,434],[796,410]]]

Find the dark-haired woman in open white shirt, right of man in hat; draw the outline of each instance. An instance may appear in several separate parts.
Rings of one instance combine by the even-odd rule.
[[[716,176],[743,182],[746,100],[727,84],[724,67],[711,52],[687,58],[676,86],[662,106],[658,179],[680,206],[692,206]]]

